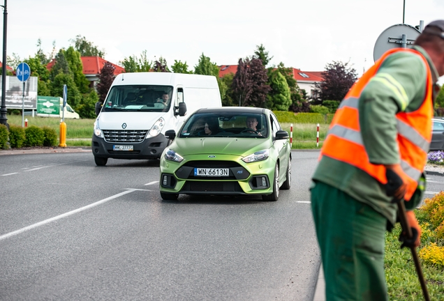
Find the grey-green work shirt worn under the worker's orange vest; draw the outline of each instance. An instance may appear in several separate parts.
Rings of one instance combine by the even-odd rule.
[[[427,52],[414,46],[429,63],[434,82],[438,72]],[[424,100],[427,70],[420,57],[410,52],[395,52],[380,65],[376,75],[367,83],[359,100],[362,141],[373,164],[398,164],[397,121],[400,111],[415,111]],[[351,155],[351,154],[350,154]],[[397,206],[385,195],[385,187],[368,173],[352,165],[323,156],[313,180],[317,180],[343,192],[357,201],[369,204],[394,224]],[[421,201],[415,194],[406,202],[412,209]]]

